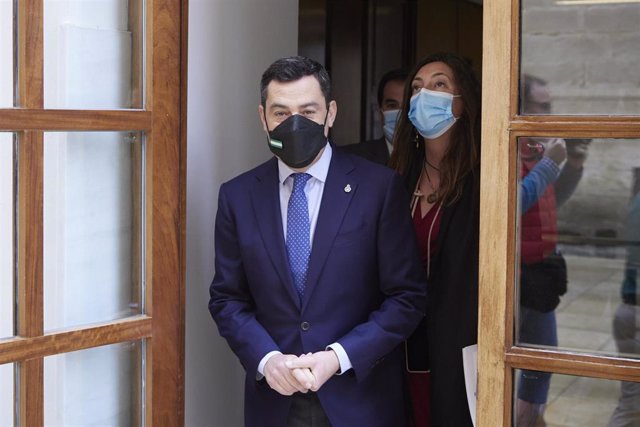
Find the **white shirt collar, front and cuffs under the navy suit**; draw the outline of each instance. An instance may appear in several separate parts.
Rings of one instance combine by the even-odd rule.
[[[309,242],[313,247],[313,235],[315,234],[316,224],[318,222],[318,213],[320,211],[320,201],[322,200],[322,193],[324,192],[324,183],[327,180],[327,174],[329,173],[329,164],[331,163],[331,155],[333,150],[331,145],[327,143],[324,148],[324,152],[320,156],[317,162],[309,167],[305,171],[311,175],[309,181],[307,181],[304,187],[304,193],[307,196],[307,203],[309,203],[309,222],[311,229],[309,230]],[[280,181],[280,214],[282,215],[282,229],[284,231],[284,238],[287,238],[287,210],[289,205],[289,198],[293,191],[293,177],[291,174],[297,173],[289,166],[287,166],[282,160],[278,159],[278,180]],[[333,343],[326,347],[331,349],[338,356],[340,362],[340,374],[345,373],[351,369],[351,361],[347,352],[339,343]],[[282,354],[280,351],[274,350],[267,353],[260,364],[258,365],[258,373],[256,379],[261,380],[264,377],[264,365],[267,360],[275,354]]]

